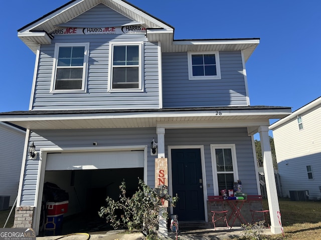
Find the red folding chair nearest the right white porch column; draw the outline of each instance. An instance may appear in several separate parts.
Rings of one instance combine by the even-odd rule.
[[[270,228],[270,225],[267,221],[267,213],[269,213],[269,210],[263,209],[262,195],[247,195],[247,201],[250,204],[252,223],[264,220],[267,223],[268,227]],[[254,201],[256,201],[256,204],[254,204],[255,203]],[[262,214],[259,215],[255,213],[262,213]]]

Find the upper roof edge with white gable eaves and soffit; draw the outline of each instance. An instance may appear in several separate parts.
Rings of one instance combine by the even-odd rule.
[[[259,38],[174,40],[173,26],[126,0],[71,0],[18,29],[18,36],[36,53],[39,44],[51,43],[54,36],[50,32],[101,3],[143,25],[148,41],[161,42],[163,52],[243,50],[247,61],[259,44]]]

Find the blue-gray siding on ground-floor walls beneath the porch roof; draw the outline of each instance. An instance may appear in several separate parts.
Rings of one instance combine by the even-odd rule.
[[[39,148],[44,147],[83,147],[92,146],[93,139],[99,146],[130,146],[147,145],[153,137],[156,139],[156,129],[125,128],[125,129],[68,129],[68,130],[37,130],[31,134]],[[251,137],[246,128],[197,128],[197,129],[166,129],[165,149],[168,156],[168,145],[204,145],[206,181],[210,183],[207,191],[214,194],[210,144],[235,144],[238,164],[238,174],[242,180],[243,190],[248,194],[257,194],[256,172],[252,152]],[[39,157],[39,156],[38,156]],[[154,159],[147,154],[147,184],[154,186]],[[33,205],[36,195],[39,159],[27,160],[22,190],[22,205]]]

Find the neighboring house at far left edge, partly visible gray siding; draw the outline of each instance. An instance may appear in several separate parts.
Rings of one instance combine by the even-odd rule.
[[[25,139],[25,128],[0,121],[0,210],[16,200]]]

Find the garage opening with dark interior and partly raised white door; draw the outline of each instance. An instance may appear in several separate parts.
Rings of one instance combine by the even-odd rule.
[[[46,214],[41,217],[39,235],[113,229],[104,218],[99,217],[98,211],[106,205],[107,196],[119,199],[121,181],[126,182],[128,195],[137,190],[138,178],[143,179],[144,176],[143,162],[143,151],[97,152],[91,153],[90,158],[86,153],[48,153],[44,182],[54,183],[68,193],[68,210],[63,212],[63,216],[55,217],[55,220],[61,221],[60,227],[55,229],[46,227],[55,225],[46,225],[48,221],[54,221],[52,218]],[[43,195],[43,208],[48,208],[46,201]]]

